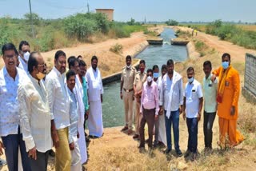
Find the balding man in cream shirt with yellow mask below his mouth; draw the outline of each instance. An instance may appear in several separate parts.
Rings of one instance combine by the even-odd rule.
[[[29,153],[32,170],[46,171],[48,151],[52,147],[50,123],[53,116],[50,113],[42,78],[45,68],[42,55],[32,52],[28,61],[28,82],[22,82],[18,87],[19,117],[23,140]]]

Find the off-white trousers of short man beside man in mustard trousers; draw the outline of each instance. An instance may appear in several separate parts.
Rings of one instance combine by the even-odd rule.
[[[74,142],[74,149],[71,150],[71,169],[72,171],[82,171],[80,149],[78,145],[78,138],[72,137]]]

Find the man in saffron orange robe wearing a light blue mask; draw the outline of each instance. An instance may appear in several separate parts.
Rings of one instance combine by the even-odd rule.
[[[230,65],[230,54],[222,55],[222,66],[214,70],[212,81],[218,77],[218,124],[222,148],[240,144],[244,137],[237,130],[238,98],[240,78],[238,71]]]

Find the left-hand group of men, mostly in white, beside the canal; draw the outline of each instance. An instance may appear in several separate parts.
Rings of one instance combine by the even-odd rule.
[[[10,171],[47,170],[54,146],[57,171],[82,170],[87,161],[85,121],[90,137],[102,137],[102,78],[98,58],[86,72],[82,59],[58,50],[54,68],[22,41],[2,46],[0,71],[0,155],[6,153]],[[66,72],[66,61],[69,71]],[[18,161],[20,149],[21,161]]]

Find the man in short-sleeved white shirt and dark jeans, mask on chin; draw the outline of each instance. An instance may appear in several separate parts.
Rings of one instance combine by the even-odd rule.
[[[192,161],[194,161],[198,153],[198,121],[200,121],[202,110],[202,86],[194,79],[193,67],[189,67],[186,74],[188,82],[184,91],[183,119],[186,119],[189,138],[185,157],[192,153]]]

